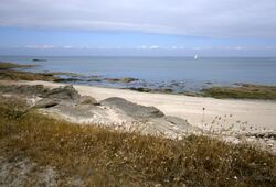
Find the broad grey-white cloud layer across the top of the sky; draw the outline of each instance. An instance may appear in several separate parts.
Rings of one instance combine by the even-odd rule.
[[[1,0],[0,26],[276,37],[275,0]]]

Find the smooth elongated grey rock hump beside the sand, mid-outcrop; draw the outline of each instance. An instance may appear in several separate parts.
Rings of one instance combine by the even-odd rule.
[[[117,108],[125,112],[127,116],[135,119],[161,118],[164,116],[163,112],[155,107],[140,106],[117,97],[107,98],[100,101],[100,103],[104,106],[112,106],[114,108]]]

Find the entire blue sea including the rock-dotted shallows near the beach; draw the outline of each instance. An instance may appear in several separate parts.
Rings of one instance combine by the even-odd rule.
[[[46,59],[46,62],[34,63],[33,58]],[[211,87],[237,87],[235,84],[276,86],[274,73],[276,58],[267,57],[200,57],[194,59],[193,57],[153,56],[0,56],[0,61],[38,64],[38,67],[30,70],[43,74],[62,72],[59,81],[63,82],[146,92],[197,95]],[[78,76],[71,76],[71,73]],[[124,78],[137,80],[118,81]]]

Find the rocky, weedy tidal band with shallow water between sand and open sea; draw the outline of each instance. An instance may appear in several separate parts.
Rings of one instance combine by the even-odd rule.
[[[174,96],[212,97],[219,99],[259,99],[276,100],[275,85],[256,85],[245,82],[214,84],[205,81],[193,89],[187,88],[184,80],[169,82],[150,82],[134,77],[104,77],[64,72],[35,72],[30,69],[39,65],[24,65],[0,62],[0,79],[46,80],[61,84],[99,86],[115,89],[135,90],[138,92],[170,94]]]

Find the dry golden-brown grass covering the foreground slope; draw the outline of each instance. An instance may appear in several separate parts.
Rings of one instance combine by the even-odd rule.
[[[276,156],[208,136],[173,141],[59,121],[0,98],[0,156],[28,157],[59,172],[59,185],[275,186]],[[159,185],[159,186],[160,186]]]

